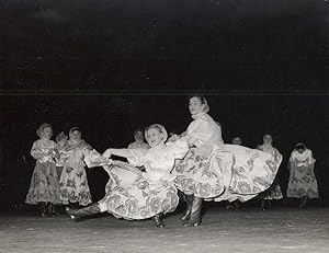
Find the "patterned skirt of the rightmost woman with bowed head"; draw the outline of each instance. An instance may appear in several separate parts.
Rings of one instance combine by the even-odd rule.
[[[287,186],[287,197],[318,198],[318,183],[314,173],[314,164],[309,166],[292,166]]]

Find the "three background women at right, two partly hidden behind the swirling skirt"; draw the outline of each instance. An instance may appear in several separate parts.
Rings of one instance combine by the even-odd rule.
[[[232,139],[234,145],[242,145],[241,137]],[[273,147],[273,137],[269,134],[263,136],[263,143],[257,149],[271,153],[277,161],[282,159],[280,151]],[[304,143],[297,143],[291,153],[288,160],[288,185],[286,196],[288,198],[298,198],[299,208],[306,208],[308,198],[318,198],[318,184],[314,172],[316,160],[313,157],[311,150],[307,149]],[[276,177],[269,189],[261,193],[261,207],[263,210],[271,209],[271,202],[282,199],[283,194],[280,183]],[[234,202],[227,206],[227,209],[240,209],[240,203]]]

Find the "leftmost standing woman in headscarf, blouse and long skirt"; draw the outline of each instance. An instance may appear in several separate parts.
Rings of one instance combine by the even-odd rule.
[[[53,216],[53,205],[59,204],[58,176],[54,158],[56,151],[55,141],[50,140],[53,128],[44,123],[36,130],[38,140],[34,141],[31,156],[36,164],[31,179],[25,203],[38,205],[43,217]]]

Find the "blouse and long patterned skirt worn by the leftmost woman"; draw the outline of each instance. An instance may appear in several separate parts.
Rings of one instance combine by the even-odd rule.
[[[36,159],[32,174],[29,193],[25,203],[36,205],[37,203],[59,204],[59,185],[54,156],[37,158],[56,147],[55,141],[38,139],[34,141],[31,156]]]

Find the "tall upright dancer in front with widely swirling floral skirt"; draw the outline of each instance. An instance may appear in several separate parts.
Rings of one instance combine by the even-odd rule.
[[[186,202],[181,220],[186,227],[195,227],[201,223],[203,199],[249,200],[272,184],[281,161],[260,150],[224,145],[219,124],[207,114],[205,97],[192,96],[189,108],[194,120],[171,140],[184,139],[191,149],[172,174]]]

